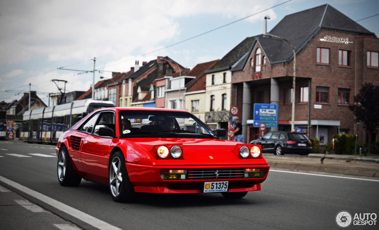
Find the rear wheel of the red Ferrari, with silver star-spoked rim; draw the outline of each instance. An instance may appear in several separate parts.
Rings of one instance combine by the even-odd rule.
[[[75,187],[80,184],[81,177],[72,168],[69,152],[64,146],[59,150],[57,171],[58,181],[62,186]]]

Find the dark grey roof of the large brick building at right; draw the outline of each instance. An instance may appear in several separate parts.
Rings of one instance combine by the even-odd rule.
[[[326,4],[285,16],[269,33],[285,38],[298,51],[320,28],[353,31],[374,36],[332,6]],[[278,38],[258,38],[271,62],[288,61],[293,51],[287,42]]]

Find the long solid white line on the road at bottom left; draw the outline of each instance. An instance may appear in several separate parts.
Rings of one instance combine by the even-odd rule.
[[[87,213],[83,213],[82,211],[79,211],[75,208],[72,208],[72,207],[62,203],[62,202],[59,202],[58,200],[54,200],[48,196],[45,196],[44,194],[41,194],[41,193],[36,192],[30,188],[27,188],[23,185],[20,185],[19,183],[8,180],[5,177],[0,176],[0,181],[3,181],[7,185],[10,185],[10,186],[12,186],[12,187],[14,187],[20,191],[23,191],[26,194],[29,194],[30,196],[35,197],[35,198],[41,200],[42,202],[45,202],[48,205],[53,206],[56,209],[69,214],[70,216],[78,218],[81,221],[86,222],[89,225],[92,225],[96,228],[99,228],[100,230],[121,230],[121,228],[117,228],[111,224],[108,224],[105,221],[97,219],[97,218],[95,218],[95,217],[93,217]]]

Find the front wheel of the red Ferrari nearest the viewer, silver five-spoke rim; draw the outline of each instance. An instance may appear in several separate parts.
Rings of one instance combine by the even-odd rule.
[[[135,192],[130,183],[122,152],[115,152],[109,165],[109,191],[116,202],[131,202]]]

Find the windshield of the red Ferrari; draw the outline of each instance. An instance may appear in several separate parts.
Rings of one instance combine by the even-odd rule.
[[[121,110],[120,137],[180,137],[201,135],[214,138],[213,132],[197,117],[187,112],[157,110]]]

